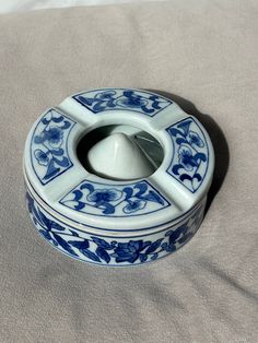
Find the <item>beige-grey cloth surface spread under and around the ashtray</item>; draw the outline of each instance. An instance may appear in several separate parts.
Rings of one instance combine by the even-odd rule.
[[[0,342],[257,342],[258,3],[181,1],[0,16]],[[38,115],[102,86],[166,92],[216,152],[203,224],[178,252],[108,269],[45,243],[24,204]]]

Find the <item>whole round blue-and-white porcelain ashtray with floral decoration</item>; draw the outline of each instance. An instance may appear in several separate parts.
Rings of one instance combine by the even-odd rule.
[[[39,234],[68,256],[136,265],[198,229],[214,154],[202,125],[142,90],[85,91],[44,113],[27,137],[27,206]]]

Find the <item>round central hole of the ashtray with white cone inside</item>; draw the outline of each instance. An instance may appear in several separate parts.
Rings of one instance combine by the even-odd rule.
[[[153,135],[128,125],[92,130],[80,140],[77,153],[87,172],[113,180],[148,177],[164,157],[163,147]]]

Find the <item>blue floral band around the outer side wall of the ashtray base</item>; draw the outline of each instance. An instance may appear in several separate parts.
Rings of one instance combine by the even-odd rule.
[[[28,192],[26,199],[34,225],[46,240],[73,258],[98,264],[139,264],[171,253],[192,237],[203,215],[203,205],[198,206],[179,227],[165,229],[159,239],[149,235],[148,239],[110,240],[59,224]]]

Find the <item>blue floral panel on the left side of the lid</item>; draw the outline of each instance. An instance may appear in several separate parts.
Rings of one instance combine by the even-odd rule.
[[[34,172],[43,185],[72,166],[66,139],[74,123],[54,109],[38,122],[32,137],[31,156]]]

